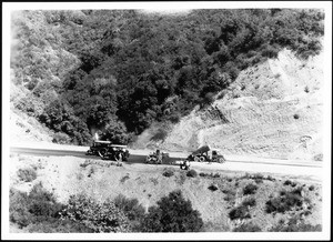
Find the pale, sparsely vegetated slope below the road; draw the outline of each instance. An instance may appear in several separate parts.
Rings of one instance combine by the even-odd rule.
[[[117,167],[113,161],[13,154],[10,165],[10,188],[26,193],[31,192],[33,185],[41,182],[42,186],[52,192],[57,201],[63,204],[71,195],[79,193],[97,199],[99,202],[107,199],[113,201],[122,194],[128,199],[138,199],[145,212],[162,196],[174,190],[181,190],[184,198],[191,201],[193,209],[200,212],[204,222],[203,232],[230,232],[240,224],[249,222],[259,225],[261,231],[269,232],[272,226],[278,225],[279,221],[289,221],[291,218],[299,218],[300,221],[312,225],[322,224],[323,194],[320,182],[279,174],[273,174],[273,177],[264,173],[249,174],[223,169],[213,171],[209,165],[204,168],[206,164],[200,164],[202,163],[196,167],[193,164],[198,174],[189,177],[186,171],[164,164],[124,162],[122,167]],[[30,172],[33,170],[31,173],[36,173],[36,178],[32,181],[24,181],[24,178],[29,178],[29,173],[27,172],[24,177],[22,172],[19,172],[20,170],[30,170]],[[167,170],[172,171],[171,177],[163,175]],[[218,190],[211,190],[212,184]],[[254,193],[244,194],[244,188],[249,184],[258,189]],[[302,205],[292,205],[293,208],[286,212],[269,213],[265,211],[266,201],[279,196],[280,191],[294,189],[302,191],[301,196],[297,196]],[[251,199],[255,202],[249,206],[250,218],[230,219],[230,212],[233,209]],[[14,199],[12,203],[24,204],[22,200]],[[19,216],[16,215],[13,218],[18,220]],[[39,224],[39,222],[26,225],[23,229],[26,232],[46,232],[48,228],[57,232],[54,226],[48,223]]]

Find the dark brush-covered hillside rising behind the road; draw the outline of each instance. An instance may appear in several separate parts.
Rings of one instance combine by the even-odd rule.
[[[87,145],[99,132],[103,140],[128,144],[149,128],[179,123],[195,107],[212,104],[216,93],[241,84],[242,71],[285,48],[303,60],[315,57],[324,20],[322,9],[195,9],[174,16],[17,11],[11,16],[11,110],[48,128],[57,143]],[[270,62],[268,74],[281,72],[287,80],[289,70]],[[260,82],[259,92],[274,84]],[[240,100],[252,95],[242,89]],[[268,100],[287,99],[278,89],[265,94]],[[223,107],[232,105],[223,100]],[[190,143],[201,142],[195,135]],[[163,131],[154,140],[164,137]]]

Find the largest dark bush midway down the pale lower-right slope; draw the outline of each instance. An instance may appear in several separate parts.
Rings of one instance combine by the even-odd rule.
[[[279,212],[284,213],[294,206],[302,206],[302,188],[294,189],[290,192],[281,191],[280,196],[272,198],[265,203],[265,211],[268,213]]]

